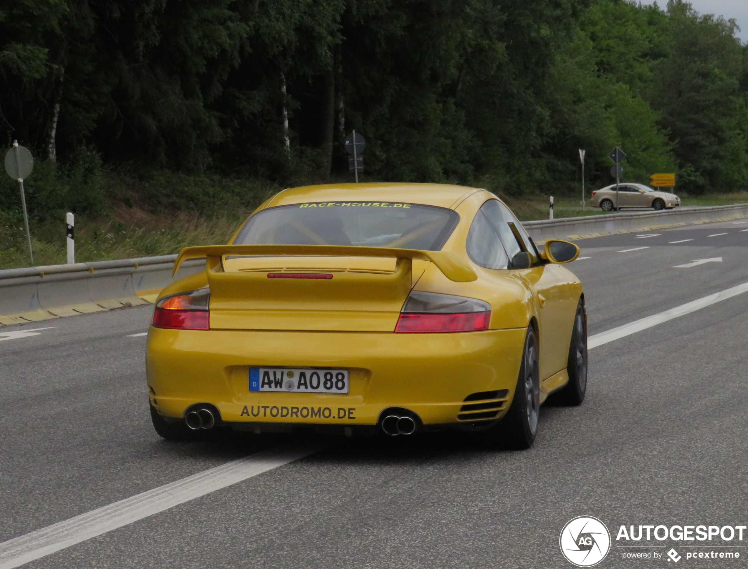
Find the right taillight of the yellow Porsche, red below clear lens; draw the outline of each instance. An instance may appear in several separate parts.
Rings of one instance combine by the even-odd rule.
[[[414,291],[402,307],[396,332],[488,330],[491,305],[477,298]]]

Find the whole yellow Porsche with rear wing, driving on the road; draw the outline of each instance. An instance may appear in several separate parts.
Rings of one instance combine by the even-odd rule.
[[[281,191],[206,269],[166,287],[148,333],[156,431],[410,435],[527,448],[539,407],[584,399],[583,289],[494,194],[433,184]]]

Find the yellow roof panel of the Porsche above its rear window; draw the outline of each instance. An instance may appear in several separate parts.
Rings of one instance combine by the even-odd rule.
[[[485,190],[468,188],[464,185],[399,182],[305,185],[281,191],[266,207],[322,201],[375,201],[423,203],[427,206],[453,208],[462,202],[462,198],[476,191]]]

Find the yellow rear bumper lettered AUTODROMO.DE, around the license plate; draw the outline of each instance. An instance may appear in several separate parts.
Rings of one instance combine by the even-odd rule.
[[[498,419],[514,394],[524,337],[524,329],[404,334],[151,327],[148,386],[154,407],[175,419],[197,403],[215,405],[224,422],[376,425],[387,407],[417,413],[423,425]],[[349,369],[349,393],[250,392],[250,366]],[[464,402],[473,393],[503,390],[491,398],[494,405]]]

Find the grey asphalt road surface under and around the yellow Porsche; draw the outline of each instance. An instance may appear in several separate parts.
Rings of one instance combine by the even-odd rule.
[[[578,242],[587,258],[571,269],[585,286],[590,335],[747,283],[744,229]],[[748,525],[747,313],[744,293],[593,349],[586,401],[543,407],[528,451],[456,435],[330,440],[24,567],[565,568],[559,533],[580,515],[613,533],[600,567],[672,567],[666,557],[622,560],[631,550],[616,532]],[[150,307],[135,307],[0,328],[49,327],[0,339],[0,542],[289,442],[161,440],[147,413],[145,338],[129,336],[149,319]],[[740,560],[678,565],[744,565],[745,540],[727,543],[742,547],[732,550]]]

